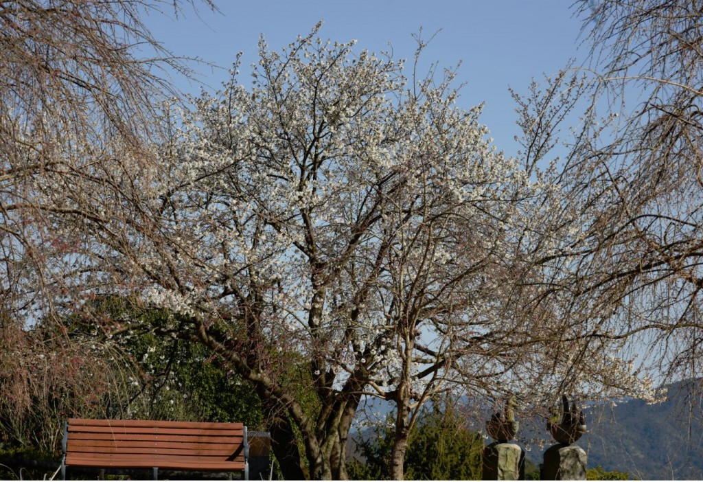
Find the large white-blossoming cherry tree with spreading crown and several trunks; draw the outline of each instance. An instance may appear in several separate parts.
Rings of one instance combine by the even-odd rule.
[[[280,53],[262,40],[251,86],[236,63],[166,119],[159,169],[90,194],[82,285],[167,308],[155,332],[205,344],[252,383],[274,449],[302,435],[297,476],[346,478],[365,396],[397,405],[402,478],[418,410],[441,391],[631,390],[612,347],[588,344],[593,324],[525,301],[573,230],[549,223],[553,173],[491,147],[480,109],[453,105],[453,72],[407,76],[318,28]]]

